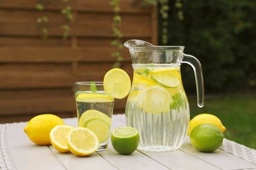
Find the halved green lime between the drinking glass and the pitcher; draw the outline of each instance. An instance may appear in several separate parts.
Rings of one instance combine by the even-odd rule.
[[[133,153],[137,149],[139,141],[139,132],[133,127],[117,127],[111,134],[112,145],[119,154]]]

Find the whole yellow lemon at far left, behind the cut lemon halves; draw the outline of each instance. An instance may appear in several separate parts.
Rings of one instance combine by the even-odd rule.
[[[24,127],[30,141],[39,145],[51,144],[50,132],[53,127],[64,125],[63,120],[54,114],[40,114],[33,117]]]

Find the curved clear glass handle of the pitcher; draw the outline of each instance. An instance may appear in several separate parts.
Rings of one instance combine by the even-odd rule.
[[[198,95],[198,107],[203,107],[204,102],[204,88],[203,88],[203,71],[200,61],[194,56],[184,54],[182,63],[189,64],[195,74],[196,79],[196,92]]]

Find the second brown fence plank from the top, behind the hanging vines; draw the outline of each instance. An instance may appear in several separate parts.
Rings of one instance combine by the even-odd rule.
[[[60,25],[70,24],[59,12],[24,11],[24,10],[1,10],[0,12],[0,35],[12,36],[41,36],[42,25],[35,21],[40,16],[49,17],[45,27],[49,29],[49,36],[62,37],[63,30]],[[150,37],[151,16],[150,14],[122,14],[120,30],[125,37]],[[114,37],[112,33],[111,13],[85,13],[78,12],[74,22],[70,24],[70,35],[75,37]],[[100,22],[99,22],[100,21]],[[143,24],[142,24],[143,23]]]

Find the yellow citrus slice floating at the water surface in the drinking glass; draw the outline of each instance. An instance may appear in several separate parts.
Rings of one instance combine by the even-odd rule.
[[[93,93],[81,93],[77,95],[75,101],[80,102],[109,102],[113,101],[112,97],[103,94],[93,94]]]

